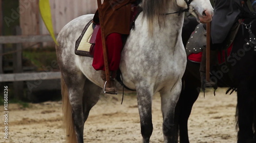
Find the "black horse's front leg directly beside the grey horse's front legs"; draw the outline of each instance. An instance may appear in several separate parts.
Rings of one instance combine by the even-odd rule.
[[[198,79],[190,79],[190,77],[185,77],[184,88],[181,91],[179,98],[179,133],[180,133],[180,143],[188,143],[188,128],[187,121],[191,113],[193,104],[197,100],[200,92],[200,81]],[[176,110],[177,110],[176,109]]]

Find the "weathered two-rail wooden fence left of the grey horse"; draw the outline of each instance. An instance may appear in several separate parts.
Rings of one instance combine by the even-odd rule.
[[[14,96],[19,99],[20,94],[23,93],[24,83],[28,80],[46,80],[46,79],[59,79],[60,72],[30,72],[23,73],[22,66],[22,44],[28,42],[49,42],[53,41],[50,35],[20,35],[20,28],[16,28],[16,36],[0,36],[0,82],[12,81],[14,86]],[[15,44],[13,48],[13,73],[4,74],[3,70],[3,44],[12,43]]]

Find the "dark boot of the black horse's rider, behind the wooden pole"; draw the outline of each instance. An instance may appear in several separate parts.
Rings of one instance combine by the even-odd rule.
[[[214,64],[215,57],[216,57],[216,51],[212,51],[210,55],[210,63]],[[201,89],[202,91],[205,91],[205,88],[214,88],[217,89],[217,83],[213,81],[206,81],[206,49],[203,49],[202,53],[202,61],[200,63],[200,77],[201,77]]]

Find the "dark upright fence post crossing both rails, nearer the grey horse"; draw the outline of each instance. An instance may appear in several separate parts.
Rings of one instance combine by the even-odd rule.
[[[15,34],[21,35],[22,30],[19,26],[15,27]],[[17,43],[13,44],[13,50],[16,50],[17,52],[13,53],[13,73],[22,73],[23,67],[22,67],[22,44]],[[14,87],[14,98],[16,99],[22,99],[23,96],[23,81],[16,81],[13,82]]]

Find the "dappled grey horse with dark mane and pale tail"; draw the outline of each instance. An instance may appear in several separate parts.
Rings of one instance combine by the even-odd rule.
[[[186,9],[199,21],[209,22],[213,10],[209,0],[147,0],[142,1],[141,7],[143,12],[135,21],[135,29],[131,30],[121,53],[123,83],[137,91],[143,142],[149,142],[153,132],[152,97],[157,92],[161,95],[164,142],[178,142],[172,137],[172,130],[186,67],[181,39],[182,12]],[[92,67],[93,59],[74,53],[77,38],[92,18],[93,14],[88,14],[72,20],[57,37],[63,113],[67,138],[73,143],[83,142],[84,123],[97,103],[103,85],[100,71]]]

